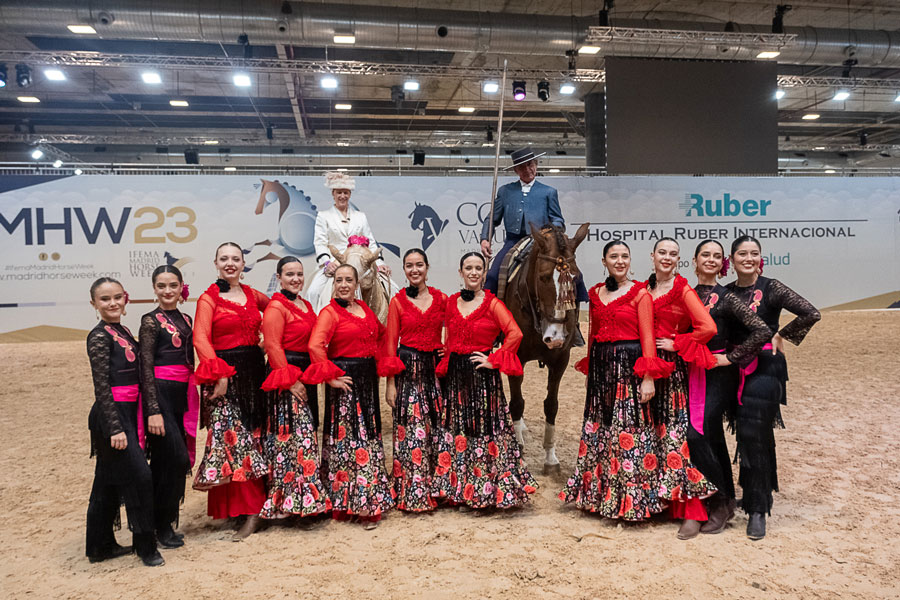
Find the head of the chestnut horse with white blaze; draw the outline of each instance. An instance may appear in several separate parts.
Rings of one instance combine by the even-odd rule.
[[[562,347],[571,330],[578,326],[574,312],[570,312],[577,307],[575,279],[581,274],[575,263],[575,249],[587,236],[589,226],[584,223],[569,239],[562,228],[538,229],[531,225],[534,248],[528,285],[537,301],[541,339],[550,349]]]

